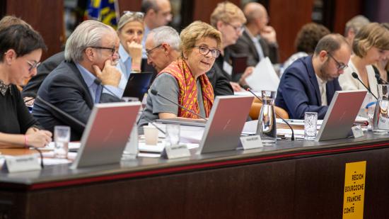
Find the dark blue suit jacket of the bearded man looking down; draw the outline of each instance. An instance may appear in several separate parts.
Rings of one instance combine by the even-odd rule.
[[[335,91],[341,91],[337,79],[327,82],[327,103],[330,104]],[[305,112],[317,112],[323,119],[328,106],[321,106],[320,90],[312,56],[296,60],[284,72],[279,82],[276,106],[284,108],[289,118],[303,119]]]

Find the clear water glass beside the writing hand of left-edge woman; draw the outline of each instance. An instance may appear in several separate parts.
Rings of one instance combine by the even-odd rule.
[[[70,127],[64,125],[54,126],[54,157],[67,158],[70,141]]]

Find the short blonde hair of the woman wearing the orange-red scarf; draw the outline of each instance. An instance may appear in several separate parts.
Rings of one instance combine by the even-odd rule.
[[[194,21],[180,33],[180,50],[182,57],[184,53],[190,52],[196,45],[197,40],[202,38],[212,38],[216,40],[217,48],[221,47],[221,33],[208,23]]]

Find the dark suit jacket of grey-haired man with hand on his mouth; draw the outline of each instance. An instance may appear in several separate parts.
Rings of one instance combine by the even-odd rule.
[[[88,86],[74,62],[62,62],[42,82],[37,95],[57,108],[73,116],[81,123],[86,124],[93,108],[93,99]],[[120,101],[110,94],[101,94],[100,103]],[[83,127],[66,118],[66,116],[53,111],[39,100],[33,107],[33,115],[42,127],[53,131],[55,125],[69,125],[71,127],[71,140],[80,140]]]

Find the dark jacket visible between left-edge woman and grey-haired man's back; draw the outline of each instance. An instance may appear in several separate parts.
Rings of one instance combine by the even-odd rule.
[[[37,90],[43,80],[45,80],[47,75],[65,60],[64,53],[65,52],[58,52],[57,54],[52,55],[37,67],[37,75],[31,78],[30,81],[28,81],[28,83],[23,87],[23,97],[30,96],[35,98],[35,96],[37,96]]]

